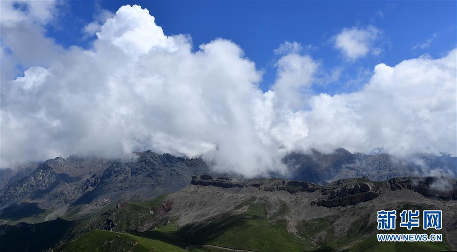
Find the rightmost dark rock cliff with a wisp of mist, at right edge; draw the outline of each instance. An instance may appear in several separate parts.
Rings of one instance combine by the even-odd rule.
[[[425,196],[457,200],[457,181],[446,177],[395,177],[389,179],[390,189],[413,190]]]

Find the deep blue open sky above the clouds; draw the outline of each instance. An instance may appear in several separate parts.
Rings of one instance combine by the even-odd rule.
[[[395,65],[425,53],[442,57],[457,38],[455,1],[70,1],[61,7],[57,24],[49,25],[48,35],[64,47],[87,48],[95,37],[83,37],[82,28],[101,9],[115,13],[126,4],[147,8],[167,35],[190,34],[196,50],[216,38],[232,40],[264,71],[264,91],[276,78],[278,56],[273,50],[285,41],[312,46],[306,53],[321,62],[327,74],[342,69],[337,81],[313,86],[315,92],[335,94],[358,90],[378,63]],[[369,25],[381,32],[377,44],[382,52],[348,62],[334,48],[332,37],[345,27]]]

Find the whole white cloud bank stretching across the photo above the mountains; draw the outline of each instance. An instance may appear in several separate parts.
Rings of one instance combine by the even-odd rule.
[[[6,5],[2,167],[151,149],[256,176],[285,172],[285,154],[311,148],[455,155],[456,50],[379,64],[362,90],[331,96],[311,91],[322,66],[295,45],[280,50],[277,81],[263,92],[262,72],[234,42],[216,39],[194,51],[188,35],[166,35],[139,6],[119,8],[89,50],[67,50],[43,35],[42,18],[5,18],[17,11]],[[24,29],[37,30],[35,48],[47,55],[23,53]],[[17,64],[26,69],[19,77]]]

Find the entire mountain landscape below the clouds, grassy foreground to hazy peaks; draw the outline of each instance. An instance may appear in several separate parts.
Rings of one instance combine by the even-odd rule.
[[[215,172],[201,158],[151,151],[130,159],[70,156],[4,169],[0,250],[456,249],[457,183],[424,173],[457,173],[454,157],[338,149],[292,153],[283,162],[287,177],[254,179]],[[375,242],[377,210],[411,208],[442,209],[445,241]]]

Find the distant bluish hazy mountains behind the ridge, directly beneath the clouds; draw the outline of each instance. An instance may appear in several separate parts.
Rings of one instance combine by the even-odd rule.
[[[388,154],[367,155],[338,149],[331,154],[313,151],[292,153],[284,158],[286,177],[326,185],[342,178],[367,177],[387,181],[399,176],[439,175],[455,177],[457,162],[449,155],[416,155],[408,159]],[[192,175],[221,174],[201,158],[185,159],[151,151],[129,159],[103,159],[96,156],[54,158],[38,166],[0,170],[0,219],[9,213],[28,212],[40,218],[55,219],[71,209],[80,214],[111,202],[141,200],[171,193],[189,185]],[[27,217],[15,217],[16,220]],[[14,220],[14,218],[13,218]]]

